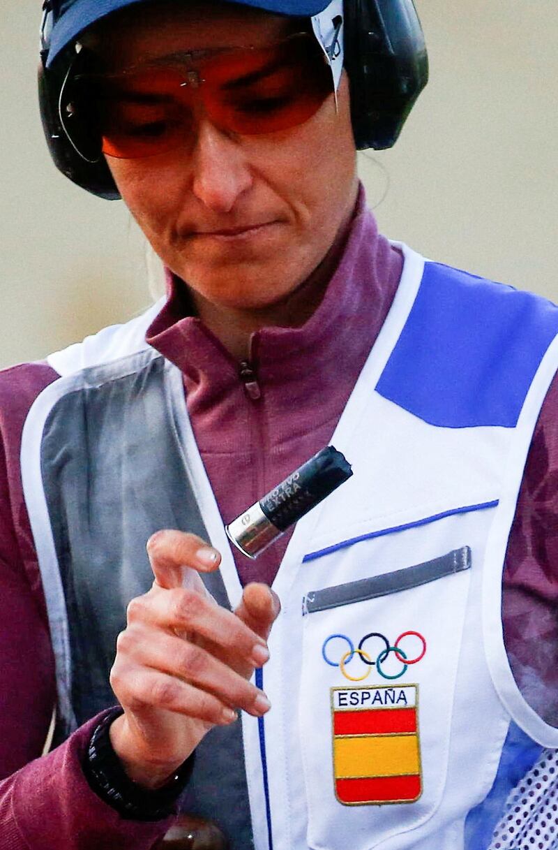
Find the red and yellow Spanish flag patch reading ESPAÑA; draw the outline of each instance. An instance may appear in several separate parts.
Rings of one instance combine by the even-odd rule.
[[[335,796],[345,806],[422,793],[418,685],[332,688]]]

